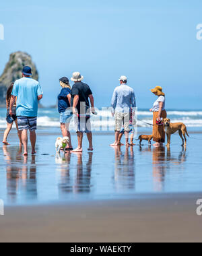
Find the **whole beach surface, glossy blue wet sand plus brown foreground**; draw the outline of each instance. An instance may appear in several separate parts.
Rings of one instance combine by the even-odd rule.
[[[83,154],[56,156],[58,135],[39,130],[36,156],[22,156],[14,130],[0,148],[0,242],[201,242],[200,141],[110,148],[114,135],[96,133],[93,153],[84,139]]]

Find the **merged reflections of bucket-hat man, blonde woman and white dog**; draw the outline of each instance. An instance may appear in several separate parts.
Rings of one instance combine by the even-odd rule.
[[[75,174],[70,174],[70,162],[71,157],[77,157],[77,165]],[[60,183],[59,183],[59,197],[64,197],[67,193],[90,193],[91,191],[91,172],[92,172],[92,157],[93,153],[88,153],[88,162],[83,164],[83,154],[68,152],[64,158],[57,156],[56,163],[61,164],[57,169],[61,172]]]

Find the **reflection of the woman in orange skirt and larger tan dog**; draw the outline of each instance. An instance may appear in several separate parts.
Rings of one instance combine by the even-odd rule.
[[[186,149],[182,149],[178,158],[172,156],[170,148],[164,147],[154,148],[153,150],[153,176],[154,176],[154,191],[164,191],[164,182],[166,172],[173,167],[174,164],[180,165],[187,159]],[[182,166],[183,168],[183,166]]]

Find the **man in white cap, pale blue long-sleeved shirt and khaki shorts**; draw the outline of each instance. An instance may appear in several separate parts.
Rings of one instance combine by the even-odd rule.
[[[133,88],[127,86],[127,77],[121,76],[119,81],[121,86],[116,87],[112,96],[112,116],[115,115],[115,142],[111,146],[118,146],[122,126],[124,126],[126,143],[129,146],[130,113],[132,108],[134,116],[136,107],[135,92]]]

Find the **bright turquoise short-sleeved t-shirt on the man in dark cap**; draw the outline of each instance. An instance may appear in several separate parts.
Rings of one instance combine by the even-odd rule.
[[[17,80],[13,86],[13,92],[11,94],[18,97],[17,116],[37,117],[38,96],[42,94],[42,89],[36,80],[30,77],[23,77]]]

